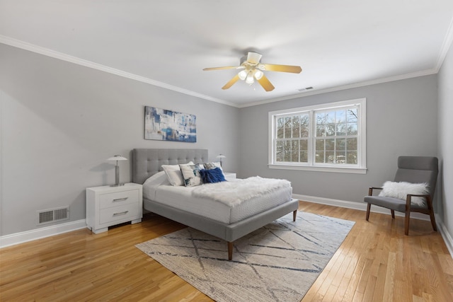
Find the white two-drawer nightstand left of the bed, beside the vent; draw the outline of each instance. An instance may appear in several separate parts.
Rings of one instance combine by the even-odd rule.
[[[142,197],[142,185],[133,182],[118,187],[87,187],[86,226],[93,233],[102,233],[115,224],[141,222]]]

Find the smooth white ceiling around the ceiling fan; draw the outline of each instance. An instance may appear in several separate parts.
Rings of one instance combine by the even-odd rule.
[[[0,42],[237,107],[435,74],[452,21],[452,0],[0,0]],[[202,71],[248,50],[302,73]]]

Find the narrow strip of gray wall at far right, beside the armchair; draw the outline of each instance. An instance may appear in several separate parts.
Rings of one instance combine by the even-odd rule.
[[[453,234],[453,47],[450,46],[438,74],[439,82],[439,214]]]

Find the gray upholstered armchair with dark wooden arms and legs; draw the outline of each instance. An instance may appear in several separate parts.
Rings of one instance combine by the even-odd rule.
[[[407,194],[406,200],[384,196],[373,196],[373,190],[382,190],[382,187],[369,187],[368,196],[365,196],[367,205],[367,221],[369,220],[369,210],[374,204],[379,207],[390,209],[391,218],[395,218],[395,211],[405,213],[404,233],[409,234],[409,219],[411,211],[430,215],[432,228],[437,231],[434,211],[432,209],[432,197],[434,195],[437,181],[438,163],[436,157],[427,156],[399,156],[398,170],[395,175],[395,182],[428,183],[429,194],[415,195]],[[412,197],[425,198],[425,206],[411,204]]]

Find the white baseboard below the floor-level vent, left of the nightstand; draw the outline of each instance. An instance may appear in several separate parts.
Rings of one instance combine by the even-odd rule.
[[[13,233],[0,237],[0,248],[6,248],[10,245],[25,243],[31,240],[54,236],[61,233],[76,231],[80,230],[81,228],[86,228],[86,219],[71,221],[67,223],[59,223],[55,224],[54,226],[46,226],[45,228],[35,228],[34,230],[21,233]]]

